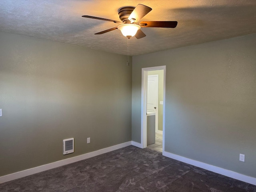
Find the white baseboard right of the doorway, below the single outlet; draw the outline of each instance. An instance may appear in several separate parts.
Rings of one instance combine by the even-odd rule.
[[[246,182],[246,183],[256,185],[256,178],[254,178],[254,177],[246,176],[246,175],[234,172],[234,171],[230,171],[230,170],[220,168],[220,167],[217,167],[214,165],[206,164],[206,163],[203,163],[200,161],[192,160],[192,159],[182,157],[182,156],[179,156],[176,154],[172,154],[172,153],[169,153],[166,151],[163,152],[163,156],[166,156],[166,157],[169,157],[169,158],[172,158],[172,159],[175,159],[175,160],[178,160],[178,161],[190,164],[190,165],[194,165],[194,166],[197,166],[197,167],[200,167],[200,168],[203,168],[203,169],[206,169],[206,170],[209,170],[209,171],[212,171],[212,172],[224,175],[224,176],[228,176],[228,177],[231,177],[231,178],[234,178],[234,179]]]

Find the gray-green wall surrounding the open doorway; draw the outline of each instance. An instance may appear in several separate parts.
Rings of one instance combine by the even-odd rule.
[[[163,65],[165,151],[256,178],[256,34],[134,56],[135,142],[140,143],[141,68]]]

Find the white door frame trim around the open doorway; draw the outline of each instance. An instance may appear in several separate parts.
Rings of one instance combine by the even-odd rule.
[[[166,66],[142,68],[141,84],[141,147],[147,147],[147,88],[148,88],[148,71],[164,70],[164,106],[163,106],[163,152],[165,138],[165,76]]]

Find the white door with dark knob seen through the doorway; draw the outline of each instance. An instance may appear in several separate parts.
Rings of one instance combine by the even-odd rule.
[[[156,113],[156,132],[158,130],[158,75],[148,75],[147,112]]]

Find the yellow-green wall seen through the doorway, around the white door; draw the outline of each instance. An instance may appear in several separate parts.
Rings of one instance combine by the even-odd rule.
[[[148,71],[148,75],[158,75],[158,130],[163,130],[163,105],[160,101],[164,100],[164,70]]]

